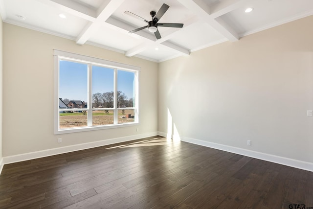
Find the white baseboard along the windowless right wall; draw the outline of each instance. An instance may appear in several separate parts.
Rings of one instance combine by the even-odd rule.
[[[158,132],[158,135],[160,135],[162,137],[167,137],[167,134],[164,132]],[[172,136],[172,138],[173,138],[173,136]],[[193,143],[193,144],[198,144],[201,146],[219,149],[219,150],[223,150],[226,152],[231,152],[231,153],[244,155],[244,156],[251,157],[251,158],[256,158],[256,159],[260,159],[260,160],[264,160],[264,161],[268,161],[268,162],[272,162],[272,163],[287,165],[290,167],[295,167],[295,168],[299,168],[302,170],[308,170],[308,171],[313,172],[313,163],[309,163],[309,162],[305,162],[305,161],[298,161],[298,160],[294,160],[291,158],[285,158],[285,157],[281,157],[281,156],[277,156],[277,155],[270,155],[267,153],[256,152],[256,151],[252,151],[252,150],[242,149],[242,148],[228,146],[228,145],[219,144],[219,143],[213,143],[213,142],[209,142],[209,141],[203,141],[203,140],[199,140],[199,139],[181,137],[180,140],[185,141],[185,142],[189,142],[189,143]]]

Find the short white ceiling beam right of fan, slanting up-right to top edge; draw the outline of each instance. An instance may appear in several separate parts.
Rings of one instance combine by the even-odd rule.
[[[246,2],[251,0],[224,0],[219,3],[216,3],[212,5],[210,11],[211,11],[211,17],[217,18],[221,17],[222,15],[231,12],[239,7],[242,7],[246,4]]]

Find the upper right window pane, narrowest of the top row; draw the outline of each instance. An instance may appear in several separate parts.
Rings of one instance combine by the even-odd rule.
[[[135,73],[117,71],[117,107],[134,107]]]

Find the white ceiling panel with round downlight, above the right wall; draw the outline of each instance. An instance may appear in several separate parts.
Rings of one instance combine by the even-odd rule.
[[[253,11],[245,13],[247,7]],[[313,14],[313,0],[253,0],[222,16],[240,36]]]

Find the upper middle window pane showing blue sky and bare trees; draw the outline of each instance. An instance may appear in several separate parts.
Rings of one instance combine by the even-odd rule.
[[[113,108],[114,70],[92,66],[92,108]]]

